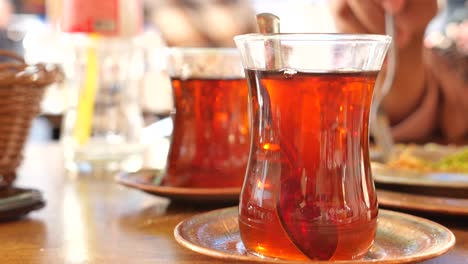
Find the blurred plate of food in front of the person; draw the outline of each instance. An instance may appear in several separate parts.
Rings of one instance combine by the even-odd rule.
[[[468,146],[398,145],[386,163],[373,162],[378,187],[468,197]]]

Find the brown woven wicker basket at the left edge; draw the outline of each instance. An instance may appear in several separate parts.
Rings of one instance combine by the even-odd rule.
[[[45,87],[58,78],[57,68],[27,65],[9,51],[0,50],[0,188],[16,177],[31,122],[40,111]]]

